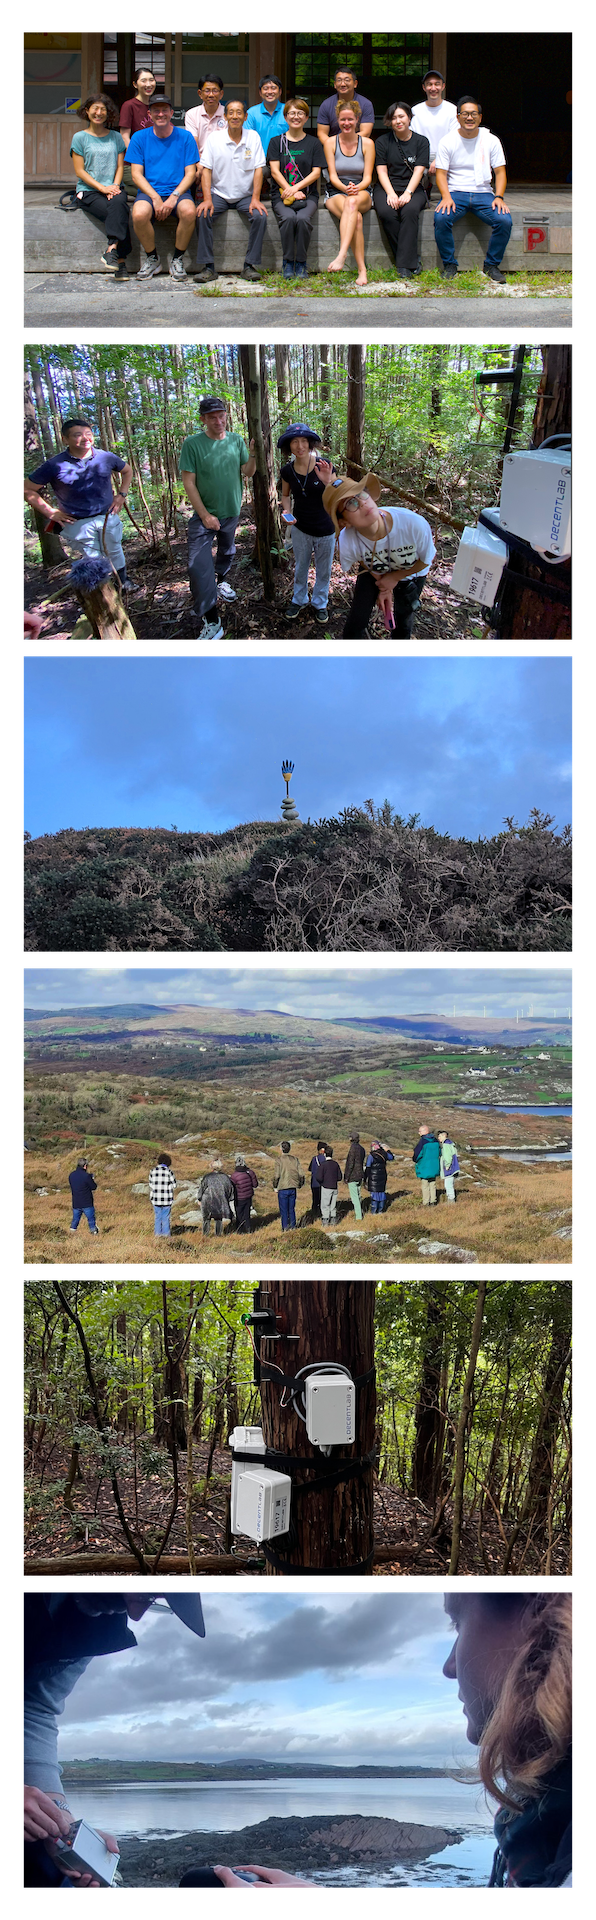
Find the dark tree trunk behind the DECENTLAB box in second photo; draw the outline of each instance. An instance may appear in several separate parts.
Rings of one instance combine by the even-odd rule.
[[[542,440],[550,434],[569,434],[571,432],[571,342],[569,340],[546,340],[542,344],[542,380],[538,386],[538,397],[533,420],[533,447],[540,447]],[[515,553],[509,549],[508,566],[521,580],[538,580],[554,588],[567,588],[571,584],[571,561],[561,561],[559,566],[552,566],[548,576],[544,570],[533,564],[525,553]],[[533,591],[531,588],[521,588],[511,580],[506,582],[502,603],[500,603],[500,639],[506,645],[569,645],[571,641],[571,607],[559,601],[548,591]]]

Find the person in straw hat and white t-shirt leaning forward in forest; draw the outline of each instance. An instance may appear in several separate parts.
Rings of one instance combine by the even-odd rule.
[[[377,507],[383,493],[377,474],[338,480],[323,493],[323,507],[336,530],[338,563],[358,574],[342,639],[361,643],[375,607],[394,641],[411,639],[419,582],[435,561],[429,520],[408,507]]]

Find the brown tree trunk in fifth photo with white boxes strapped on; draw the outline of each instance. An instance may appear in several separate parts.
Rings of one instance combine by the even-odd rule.
[[[340,1361],[350,1367],[352,1379],[373,1367],[375,1279],[371,1275],[273,1273],[260,1281],[260,1300],[285,1315],[286,1332],[298,1334],[298,1340],[286,1336],[261,1340],[261,1363],[271,1359],[292,1379],[308,1361],[319,1359]],[[371,1452],[375,1407],[375,1380],[369,1380],[356,1394],[356,1444],[333,1448],[333,1453],[325,1455],[311,1446],[304,1419],[298,1419],[292,1407],[281,1407],[281,1384],[261,1380],[265,1444],[311,1463],[308,1469],[298,1465],[292,1473],[292,1532],[275,1546],[290,1576],[300,1567],[335,1576],[344,1572],[346,1578],[352,1572],[358,1582],[371,1571],[373,1461],[336,1486],[306,1494],[300,1494],[300,1486],[311,1488],[311,1482],[329,1475],[340,1457],[360,1459]],[[263,1553],[269,1563],[267,1546],[265,1542]],[[271,1563],[269,1572],[271,1580],[285,1578],[285,1572]]]

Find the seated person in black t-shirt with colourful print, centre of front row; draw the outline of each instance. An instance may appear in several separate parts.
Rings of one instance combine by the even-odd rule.
[[[288,131],[267,146],[271,205],[281,232],[283,276],[304,280],[325,152],[321,140],[304,131],[310,117],[306,100],[286,100],[283,111]]]

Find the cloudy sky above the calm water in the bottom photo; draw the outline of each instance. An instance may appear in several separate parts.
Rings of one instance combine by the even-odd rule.
[[[62,1716],[60,1759],[473,1764],[442,1594],[208,1594],[206,1640],[175,1615],[133,1624]]]

